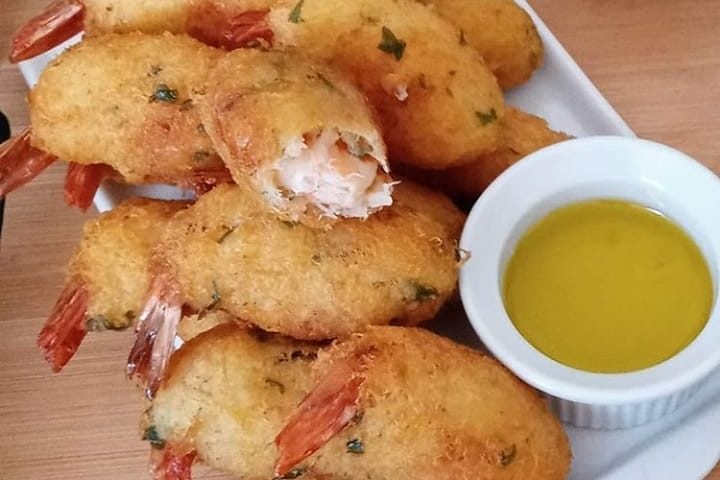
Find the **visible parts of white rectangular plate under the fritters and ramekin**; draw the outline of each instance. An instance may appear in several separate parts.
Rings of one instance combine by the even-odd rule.
[[[509,103],[546,118],[550,125],[577,137],[634,136],[618,113],[568,55],[524,0],[516,0],[535,20],[545,44],[545,65],[530,82],[507,94]],[[79,36],[68,44],[79,40]],[[62,45],[20,64],[34,85],[47,62]],[[95,196],[100,211],[133,195],[177,198],[172,187],[105,185]],[[459,308],[450,306],[431,328],[462,343],[482,348]],[[567,427],[573,448],[570,480],[700,479],[720,458],[720,372],[716,372],[687,404],[672,415],[629,430],[594,431]]]

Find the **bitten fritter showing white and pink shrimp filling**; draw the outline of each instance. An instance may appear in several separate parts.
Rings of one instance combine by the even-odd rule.
[[[365,99],[298,52],[228,53],[194,98],[235,179],[250,177],[288,219],[366,218],[392,203],[385,144]]]

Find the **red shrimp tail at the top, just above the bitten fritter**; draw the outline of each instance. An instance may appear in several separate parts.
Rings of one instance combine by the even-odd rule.
[[[272,45],[273,31],[267,22],[270,10],[248,10],[238,14],[213,2],[203,2],[189,15],[186,25],[191,37],[225,50]]]

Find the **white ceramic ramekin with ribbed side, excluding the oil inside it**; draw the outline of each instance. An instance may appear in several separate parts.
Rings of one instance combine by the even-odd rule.
[[[690,233],[708,262],[714,292],[710,319],[683,351],[653,367],[622,374],[567,367],[528,343],[505,311],[502,276],[519,237],[559,206],[591,198],[623,199],[663,212]],[[720,180],[677,150],[624,137],[590,137],[542,149],[485,191],[460,247],[472,254],[460,271],[460,294],[475,331],[502,363],[549,396],[563,421],[614,429],[654,420],[689,399],[720,364]]]

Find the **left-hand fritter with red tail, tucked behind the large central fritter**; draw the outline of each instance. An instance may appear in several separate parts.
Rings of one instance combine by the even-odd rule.
[[[184,202],[127,200],[85,224],[68,279],[38,343],[59,371],[88,330],[129,327],[149,285],[151,251]]]

